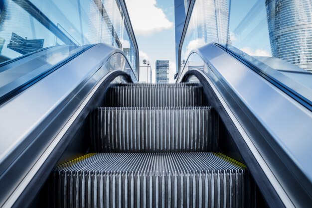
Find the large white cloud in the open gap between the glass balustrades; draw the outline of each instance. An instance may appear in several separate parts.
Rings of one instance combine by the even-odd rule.
[[[126,5],[136,35],[151,35],[173,26],[163,10],[156,7],[156,0],[126,0]]]

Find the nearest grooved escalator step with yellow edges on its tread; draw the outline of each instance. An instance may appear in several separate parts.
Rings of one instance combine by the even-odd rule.
[[[220,153],[97,153],[56,167],[55,207],[250,207],[246,167]]]

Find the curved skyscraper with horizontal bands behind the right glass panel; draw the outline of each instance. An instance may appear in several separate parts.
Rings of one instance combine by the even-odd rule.
[[[312,0],[266,0],[271,51],[312,71]]]

